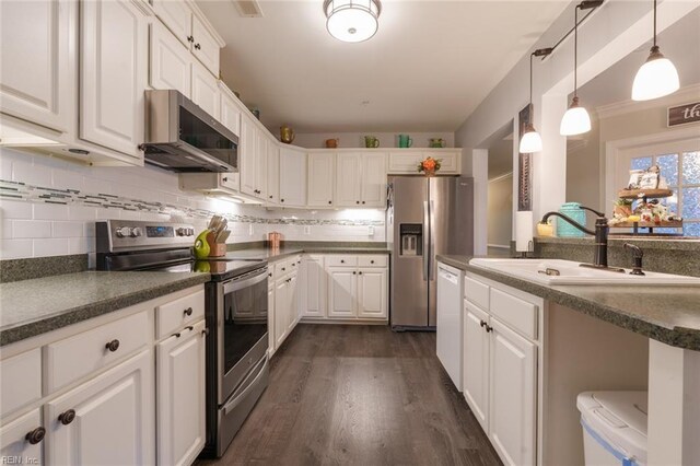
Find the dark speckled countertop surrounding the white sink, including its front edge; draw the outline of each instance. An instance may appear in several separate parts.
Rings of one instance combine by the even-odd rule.
[[[469,265],[470,256],[438,260],[588,314],[674,347],[700,351],[700,287],[555,286]]]

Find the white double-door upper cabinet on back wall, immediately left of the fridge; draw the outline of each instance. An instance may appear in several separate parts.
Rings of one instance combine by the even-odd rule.
[[[386,153],[341,152],[337,155],[336,206],[383,207],[386,199]]]

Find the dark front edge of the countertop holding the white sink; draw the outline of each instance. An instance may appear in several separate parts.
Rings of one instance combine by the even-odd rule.
[[[499,273],[497,271],[486,270],[450,257],[439,255],[438,260],[460,270],[469,271],[487,279],[498,281],[499,283],[513,287],[526,293],[544,298],[557,304],[596,317],[600,321],[635,334],[643,335],[663,343],[695,351],[700,350],[699,330],[681,327],[669,328],[664,326],[662,323],[650,322],[648,319],[640,318],[639,316],[631,315],[620,308],[575,296],[553,287],[545,287],[527,280]]]

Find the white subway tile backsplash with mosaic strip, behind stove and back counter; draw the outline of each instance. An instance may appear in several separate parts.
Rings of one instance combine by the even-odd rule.
[[[0,149],[0,258],[93,253],[97,220],[182,220],[203,230],[214,212],[230,219],[229,243],[262,241],[270,231],[290,241],[385,241],[383,210],[266,210],[182,191],[177,184],[177,175],[151,166],[89,167]],[[66,189],[78,193],[57,191]],[[18,193],[22,199],[8,197]],[[48,199],[66,203],[47,203],[42,196],[49,193],[66,195]],[[115,196],[102,197],[107,201],[141,205],[144,210],[104,208],[90,203],[91,198],[81,199],[100,194]]]

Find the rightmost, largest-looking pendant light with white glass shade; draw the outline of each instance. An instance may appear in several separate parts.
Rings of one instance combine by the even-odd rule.
[[[632,101],[651,101],[678,91],[678,71],[656,45],[656,0],[654,0],[654,45],[649,58],[637,71],[632,84]]]

